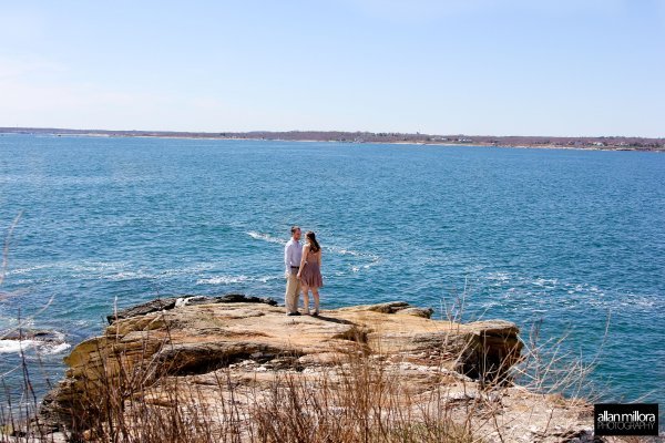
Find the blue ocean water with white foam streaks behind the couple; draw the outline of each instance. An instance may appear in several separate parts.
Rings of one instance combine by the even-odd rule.
[[[661,154],[3,135],[2,235],[20,213],[0,330],[24,321],[75,344],[115,303],[282,301],[283,245],[298,224],[324,246],[324,308],[406,300],[441,312],[463,297],[463,320],[540,323],[542,339],[597,357],[604,400],[665,400]],[[60,378],[65,347],[42,349],[42,378]],[[18,385],[16,350],[0,352]]]

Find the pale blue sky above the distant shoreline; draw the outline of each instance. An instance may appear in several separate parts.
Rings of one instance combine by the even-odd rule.
[[[665,136],[665,0],[0,0],[0,126]]]

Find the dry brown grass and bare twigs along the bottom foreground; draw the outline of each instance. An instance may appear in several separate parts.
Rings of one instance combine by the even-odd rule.
[[[228,364],[232,362],[207,374],[186,375],[156,361],[147,344],[129,354],[109,352],[123,347],[108,343],[96,350],[101,364],[88,372],[82,385],[71,389],[69,404],[57,411],[58,431],[73,442],[113,443],[508,442],[510,436],[502,435],[498,421],[500,404],[492,399],[512,385],[512,377],[546,393],[571,383],[580,385],[589,372],[580,371],[581,365],[573,367],[572,372],[570,368],[557,369],[562,359],[545,360],[541,352],[546,349],[548,356],[556,356],[561,341],[545,347],[538,346],[536,339],[533,332],[522,362],[511,371],[491,369],[504,375],[463,385],[462,401],[459,392],[457,398],[450,392],[444,375],[430,382],[428,389],[418,389],[413,380],[396,370],[399,362],[390,362],[380,349],[369,353],[361,342],[339,361],[313,372],[287,367],[254,375],[237,371]],[[162,346],[170,342],[165,337]],[[441,343],[442,349],[446,344]],[[463,359],[466,351],[452,360]],[[449,365],[451,356],[444,359]],[[23,401],[29,406],[18,415],[11,402],[0,404],[0,423],[8,424],[0,427],[0,442],[28,442],[33,436],[53,441],[52,423],[43,422],[44,416],[37,413],[39,403],[25,359],[22,361],[24,392],[31,401]],[[440,374],[446,373],[443,365],[442,357]],[[546,379],[552,373],[566,375],[554,383]],[[490,432],[492,439],[488,437]]]

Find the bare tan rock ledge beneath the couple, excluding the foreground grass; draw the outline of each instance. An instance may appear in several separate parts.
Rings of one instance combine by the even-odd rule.
[[[401,387],[399,401],[415,416],[433,408],[439,392],[438,408],[446,404],[450,420],[472,424],[484,441],[586,435],[586,405],[513,385],[523,347],[515,324],[460,324],[432,320],[431,313],[390,302],[287,317],[269,299],[241,295],[155,300],[110,317],[102,336],[72,350],[64,380],[44,400],[42,421],[71,429],[85,413],[82,405],[125,392],[130,382],[141,389],[122,398],[123,410],[132,402],[173,403],[173,383],[196,387],[187,401],[201,408],[219,406],[238,387],[252,389],[255,404],[284,380],[341,383],[345,368],[369,361]],[[252,415],[248,394],[232,393],[234,408]],[[478,408],[471,416],[470,405]]]

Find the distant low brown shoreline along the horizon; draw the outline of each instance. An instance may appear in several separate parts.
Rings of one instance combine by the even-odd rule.
[[[487,146],[512,148],[638,151],[665,152],[665,137],[546,137],[546,136],[471,136],[406,133],[289,131],[289,132],[175,132],[175,131],[108,131],[43,127],[0,127],[0,135],[53,135],[96,137],[154,137],[192,140],[253,140],[275,142],[337,142],[359,144],[416,144],[431,146]]]

